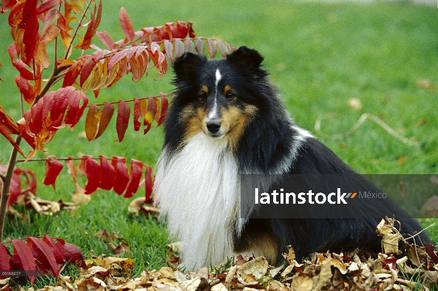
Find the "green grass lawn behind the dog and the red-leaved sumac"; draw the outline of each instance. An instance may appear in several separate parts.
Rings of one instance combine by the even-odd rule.
[[[139,30],[176,20],[191,20],[197,36],[220,38],[235,48],[259,50],[284,102],[297,124],[312,131],[343,161],[362,174],[438,173],[438,10],[409,2],[322,3],[254,0],[245,1],[103,1],[98,31],[108,31],[115,40],[123,37],[118,15],[124,6]],[[7,16],[0,16],[0,105],[18,120],[19,94],[7,47],[12,42]],[[97,41],[98,46],[102,44]],[[88,52],[87,52],[88,53]],[[155,72],[138,83],[124,77],[103,89],[96,102],[171,93],[169,71],[159,81]],[[421,81],[422,80],[422,81]],[[428,81],[429,85],[424,85]],[[420,81],[420,82],[419,82]],[[88,93],[90,100],[92,94]],[[348,104],[356,98],[362,104]],[[93,102],[93,101],[91,101]],[[378,116],[396,132],[419,146],[409,146],[372,121],[350,136],[331,136],[351,129],[363,113]],[[323,118],[321,132],[315,121]],[[115,119],[115,118],[113,118]],[[161,129],[143,136],[130,121],[122,143],[112,120],[102,137],[88,142],[83,134],[85,117],[73,132],[61,129],[39,158],[87,155],[123,156],[155,165],[162,144]],[[0,160],[5,164],[11,147],[0,140]],[[28,147],[23,146],[27,152]],[[71,200],[74,184],[67,170],[57,180],[56,193],[42,185],[43,162],[19,164],[33,169],[38,177],[38,195],[44,199]],[[140,188],[136,197],[144,194]],[[88,205],[74,213],[56,217],[29,213],[23,220],[8,221],[5,239],[47,233],[82,248],[86,257],[111,254],[93,232],[105,228],[121,234],[131,245],[130,256],[137,270],[158,268],[166,256],[165,227],[153,219],[127,212],[130,199],[112,191],[100,191]],[[428,225],[428,222],[424,222]],[[431,236],[438,242],[438,228]]]

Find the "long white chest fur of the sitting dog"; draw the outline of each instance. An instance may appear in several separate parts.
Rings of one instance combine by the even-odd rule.
[[[233,233],[240,233],[240,181],[225,140],[203,133],[176,154],[158,160],[154,195],[171,236],[182,243],[188,271],[218,264],[233,254]]]

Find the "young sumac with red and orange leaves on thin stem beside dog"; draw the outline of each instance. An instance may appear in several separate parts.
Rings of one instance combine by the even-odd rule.
[[[20,194],[35,194],[36,191],[35,173],[15,168],[18,153],[25,157],[24,161],[38,161],[35,159],[37,152],[53,140],[57,130],[73,128],[87,107],[85,132],[89,141],[104,133],[116,110],[115,103],[117,141],[123,140],[131,118],[134,130],[143,129],[146,134],[163,123],[171,99],[160,93],[157,97],[89,104],[88,91],[98,98],[102,88],[112,86],[123,76],[131,73],[132,81],[137,82],[147,76],[151,68],[158,71],[160,79],[169,68],[168,60],[172,64],[186,51],[206,52],[210,58],[215,58],[218,51],[226,57],[234,50],[221,40],[196,37],[191,21],[167,22],[136,31],[123,7],[119,21],[125,37],[114,41],[110,33],[98,32],[103,17],[102,0],[1,0],[1,13],[6,12],[9,12],[12,36],[8,54],[18,71],[15,82],[22,118],[15,122],[0,106],[0,133],[12,145],[8,165],[0,165],[0,241],[8,204]],[[96,45],[95,36],[105,49]],[[58,58],[58,40],[64,47],[63,58]],[[54,47],[53,60],[49,58],[47,46],[51,42],[54,43],[49,47]],[[74,49],[80,51],[75,54],[80,56],[70,58]],[[43,80],[43,72],[49,68],[52,73]],[[57,82],[62,83],[62,88],[51,91]],[[13,135],[16,135],[15,139]],[[20,148],[21,139],[33,148],[27,155]],[[46,162],[43,184],[54,187],[56,177],[64,168],[62,160],[52,156],[43,159]],[[65,160],[76,188],[86,194],[101,188],[131,197],[142,183],[145,184],[145,200],[152,194],[153,170],[140,161],[132,159],[128,169],[125,158],[100,156],[96,161],[91,156],[84,156],[79,171],[87,177],[87,183],[82,186],[76,180],[74,159]],[[145,178],[141,179],[143,171]],[[25,186],[21,185],[22,181],[26,181]]]

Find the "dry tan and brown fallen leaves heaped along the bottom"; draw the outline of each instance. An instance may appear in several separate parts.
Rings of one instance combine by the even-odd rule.
[[[172,253],[179,244],[173,243],[167,246],[171,253],[166,267],[144,270],[137,278],[129,278],[134,268],[132,259],[102,255],[85,260],[87,267],[80,269],[80,277],[59,275],[57,286],[38,291],[429,291],[429,287],[438,284],[435,247],[407,242],[394,226],[396,222],[386,218],[377,227],[383,243],[382,253],[376,259],[356,249],[348,254],[314,253],[298,263],[294,249],[288,246],[288,254],[283,253],[284,263],[280,266],[270,266],[263,257],[238,255],[217,266],[184,274],[184,269],[178,268],[180,258]],[[94,235],[107,242],[123,240],[105,230]],[[404,242],[401,249],[398,240]],[[1,290],[8,285],[8,279],[5,280],[0,280]]]

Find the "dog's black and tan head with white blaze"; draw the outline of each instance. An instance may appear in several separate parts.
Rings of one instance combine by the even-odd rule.
[[[203,132],[235,145],[262,102],[259,87],[267,75],[262,61],[256,50],[246,47],[222,60],[190,52],[177,58],[176,96],[169,112],[174,116],[169,116],[166,131],[179,124],[182,142]]]

